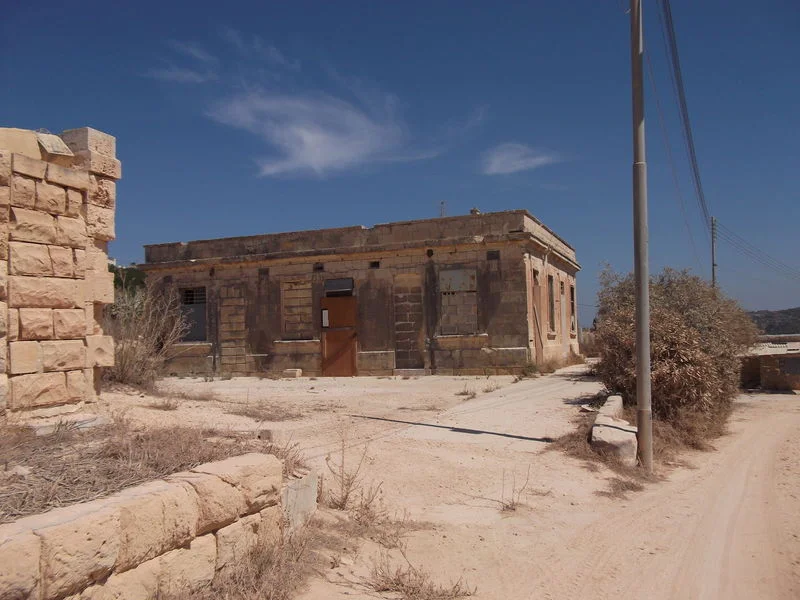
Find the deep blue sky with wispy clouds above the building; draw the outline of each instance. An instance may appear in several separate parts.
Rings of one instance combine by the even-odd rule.
[[[121,262],[148,243],[427,218],[445,201],[528,209],[575,246],[584,323],[601,264],[632,267],[620,0],[4,5],[0,125],[117,137]],[[675,0],[673,15],[712,212],[800,269],[800,8]],[[651,268],[709,276],[653,0],[645,22],[686,204],[648,81]],[[724,244],[718,262],[745,307],[800,305],[800,285]]]

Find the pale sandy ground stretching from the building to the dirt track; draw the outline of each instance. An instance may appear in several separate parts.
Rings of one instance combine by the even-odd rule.
[[[800,598],[798,396],[742,396],[716,451],[691,453],[661,481],[614,498],[613,473],[548,450],[600,389],[582,367],[518,383],[242,378],[164,388],[215,397],[162,411],[120,391],[97,409],[151,425],[271,429],[323,472],[344,432],[351,464],[367,448],[363,484],[381,483],[386,506],[422,524],[406,538],[409,560],[436,581],[476,586],[477,598]],[[456,395],[465,388],[478,396]],[[303,416],[230,414],[242,403]],[[501,510],[512,497],[520,506]],[[374,598],[364,582],[379,552],[343,549],[302,598]]]

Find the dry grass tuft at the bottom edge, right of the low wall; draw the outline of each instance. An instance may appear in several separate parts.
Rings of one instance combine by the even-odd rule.
[[[407,566],[393,566],[387,553],[375,562],[367,582],[374,591],[397,594],[402,600],[452,600],[476,593],[460,579],[450,585],[434,583],[427,571],[412,565],[405,552],[400,552]]]

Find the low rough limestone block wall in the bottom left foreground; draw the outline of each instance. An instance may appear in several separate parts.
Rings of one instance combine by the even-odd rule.
[[[0,525],[0,598],[196,592],[280,539],[282,477],[274,456],[245,454]]]

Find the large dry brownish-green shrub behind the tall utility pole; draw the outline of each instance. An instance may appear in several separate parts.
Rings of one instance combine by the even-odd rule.
[[[597,374],[626,405],[636,404],[633,275],[600,276]],[[650,282],[653,418],[684,443],[702,446],[722,433],[738,393],[741,354],[757,329],[739,305],[686,271],[665,269]]]

